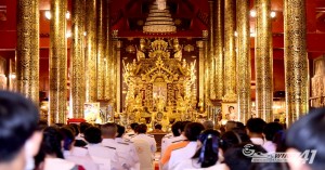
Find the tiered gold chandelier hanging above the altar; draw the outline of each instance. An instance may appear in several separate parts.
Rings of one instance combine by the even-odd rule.
[[[145,34],[173,34],[177,27],[166,4],[166,0],[156,0],[150,8],[150,14],[143,26]]]

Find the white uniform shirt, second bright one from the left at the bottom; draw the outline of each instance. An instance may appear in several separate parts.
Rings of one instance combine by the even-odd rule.
[[[89,144],[87,145],[89,155],[92,159],[96,157],[101,159],[109,159],[110,160],[110,170],[120,170],[121,165],[118,159],[118,155],[116,152],[116,147],[104,146],[100,144]],[[95,161],[95,160],[94,160]]]

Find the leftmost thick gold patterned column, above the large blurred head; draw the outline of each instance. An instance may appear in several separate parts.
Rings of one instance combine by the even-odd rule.
[[[39,1],[17,1],[17,88],[39,103]]]

